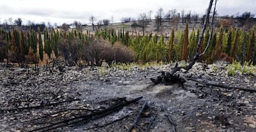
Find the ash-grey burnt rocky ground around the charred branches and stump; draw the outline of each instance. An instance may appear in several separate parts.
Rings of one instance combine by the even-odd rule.
[[[175,125],[168,121],[163,105],[177,131],[255,131],[256,93],[205,88],[194,81],[187,81],[184,87],[153,85],[151,77],[172,67],[174,64],[132,66],[127,70],[65,67],[65,72],[54,70],[53,74],[40,67],[36,75],[32,68],[28,74],[24,68],[1,64],[0,131],[36,130],[88,110],[104,110],[122,101],[118,97],[130,101],[140,96],[143,99],[106,116],[50,131],[127,131],[145,101],[149,107],[133,131],[173,131]],[[228,76],[226,67],[229,66],[225,63],[197,63],[186,75],[210,83],[256,89],[255,73]],[[60,112],[67,109],[70,111]]]

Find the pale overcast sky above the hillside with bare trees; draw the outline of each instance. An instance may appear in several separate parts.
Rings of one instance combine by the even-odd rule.
[[[111,19],[119,22],[122,17],[137,19],[140,13],[153,11],[160,7],[164,12],[176,9],[177,12],[192,10],[192,13],[204,14],[210,0],[0,0],[0,23],[21,18],[23,25],[28,20],[41,23],[51,22],[58,25],[77,20],[89,24],[91,15],[96,20]],[[249,11],[256,13],[256,0],[218,0],[217,11],[219,15],[242,14]]]

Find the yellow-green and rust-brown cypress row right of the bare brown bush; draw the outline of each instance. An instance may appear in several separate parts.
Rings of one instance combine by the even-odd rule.
[[[251,62],[255,65],[255,29],[255,27],[250,30],[216,28],[213,31],[207,52],[198,61],[211,64],[217,60],[229,62],[236,60],[242,63],[245,61]],[[189,30],[188,24],[186,24],[186,28],[183,31],[171,29],[169,37],[156,33],[144,36],[140,34],[134,35],[134,33],[124,30],[106,29],[97,31],[96,35],[103,36],[104,39],[108,39],[111,43],[121,41],[126,46],[129,46],[135,52],[136,61],[171,62],[179,60],[190,61],[193,59],[200,30]],[[203,36],[200,52],[203,52],[207,47],[209,37],[210,30],[208,29]]]

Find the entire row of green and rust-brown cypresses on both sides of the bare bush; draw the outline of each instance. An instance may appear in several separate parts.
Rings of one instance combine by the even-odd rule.
[[[255,30],[241,30],[239,28],[224,29],[220,27],[213,31],[208,51],[202,56],[199,61],[213,63],[216,60],[233,60],[241,62],[256,63],[255,59]],[[69,32],[61,32],[58,30],[45,28],[41,32],[32,29],[23,32],[12,28],[9,31],[0,31],[3,38],[6,40],[6,55],[9,59],[22,64],[25,62],[26,57],[35,56],[40,60],[44,59],[44,53],[47,54],[48,59],[59,56],[58,44],[61,39],[67,38],[80,39],[88,41],[90,32],[82,33],[81,31],[72,30]],[[199,39],[200,30],[190,30],[188,24],[182,30],[170,31],[169,37],[152,33],[148,35],[140,35],[130,33],[124,29],[103,29],[95,32],[95,36],[100,36],[108,40],[111,44],[120,41],[127,47],[130,47],[135,52],[135,61],[151,62],[151,61],[189,61],[193,58]],[[207,30],[203,36],[202,47],[200,52],[207,46],[210,31]],[[54,54],[54,56],[53,56]],[[34,59],[33,62],[39,60]]]

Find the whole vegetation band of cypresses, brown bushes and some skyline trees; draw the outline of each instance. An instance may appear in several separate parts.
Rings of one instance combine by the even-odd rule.
[[[166,14],[165,17],[166,19],[176,18],[175,14],[176,10],[169,10],[169,14]],[[156,17],[155,22],[158,26],[156,28],[159,31],[163,24],[163,9],[158,10]],[[12,27],[0,31],[0,61],[3,62],[6,59],[8,62],[15,62],[20,66],[32,62],[39,63],[39,59],[43,62],[57,57],[66,60],[66,64],[69,66],[98,66],[103,61],[106,61],[109,65],[118,62],[147,64],[148,62],[190,61],[196,51],[200,30],[195,28],[192,31],[189,30],[189,20],[191,19],[189,17],[189,14],[184,16],[184,20],[187,20],[184,31],[172,28],[168,37],[161,34],[161,32],[144,33],[150,21],[145,13],[139,15],[138,23],[134,22],[131,25],[133,28],[142,28],[142,35],[137,32],[130,33],[129,30],[126,30],[129,25],[114,30],[108,27],[109,20],[105,20],[105,28],[95,29],[95,34],[91,34],[90,31],[84,32],[82,25],[77,21],[73,23],[75,28],[72,28],[72,30],[69,28],[70,25],[67,24],[63,24],[61,28],[56,30],[40,28],[40,25],[38,25],[37,30],[32,27],[28,30]],[[252,15],[248,15],[247,12],[247,14],[238,18],[242,25],[247,28],[234,28],[221,22],[225,25],[215,28],[212,35],[210,29],[208,29],[203,36],[200,53],[207,46],[209,38],[211,38],[210,46],[198,61],[211,64],[218,60],[224,60],[242,62],[242,65],[245,62],[248,65],[255,65],[256,27],[247,24],[248,20],[252,20],[251,17]],[[127,20],[131,21],[132,19],[124,19],[124,23]],[[95,17],[90,17],[90,21],[94,27]],[[20,25],[22,20],[19,19],[15,22]],[[236,69],[234,70],[236,71]]]

